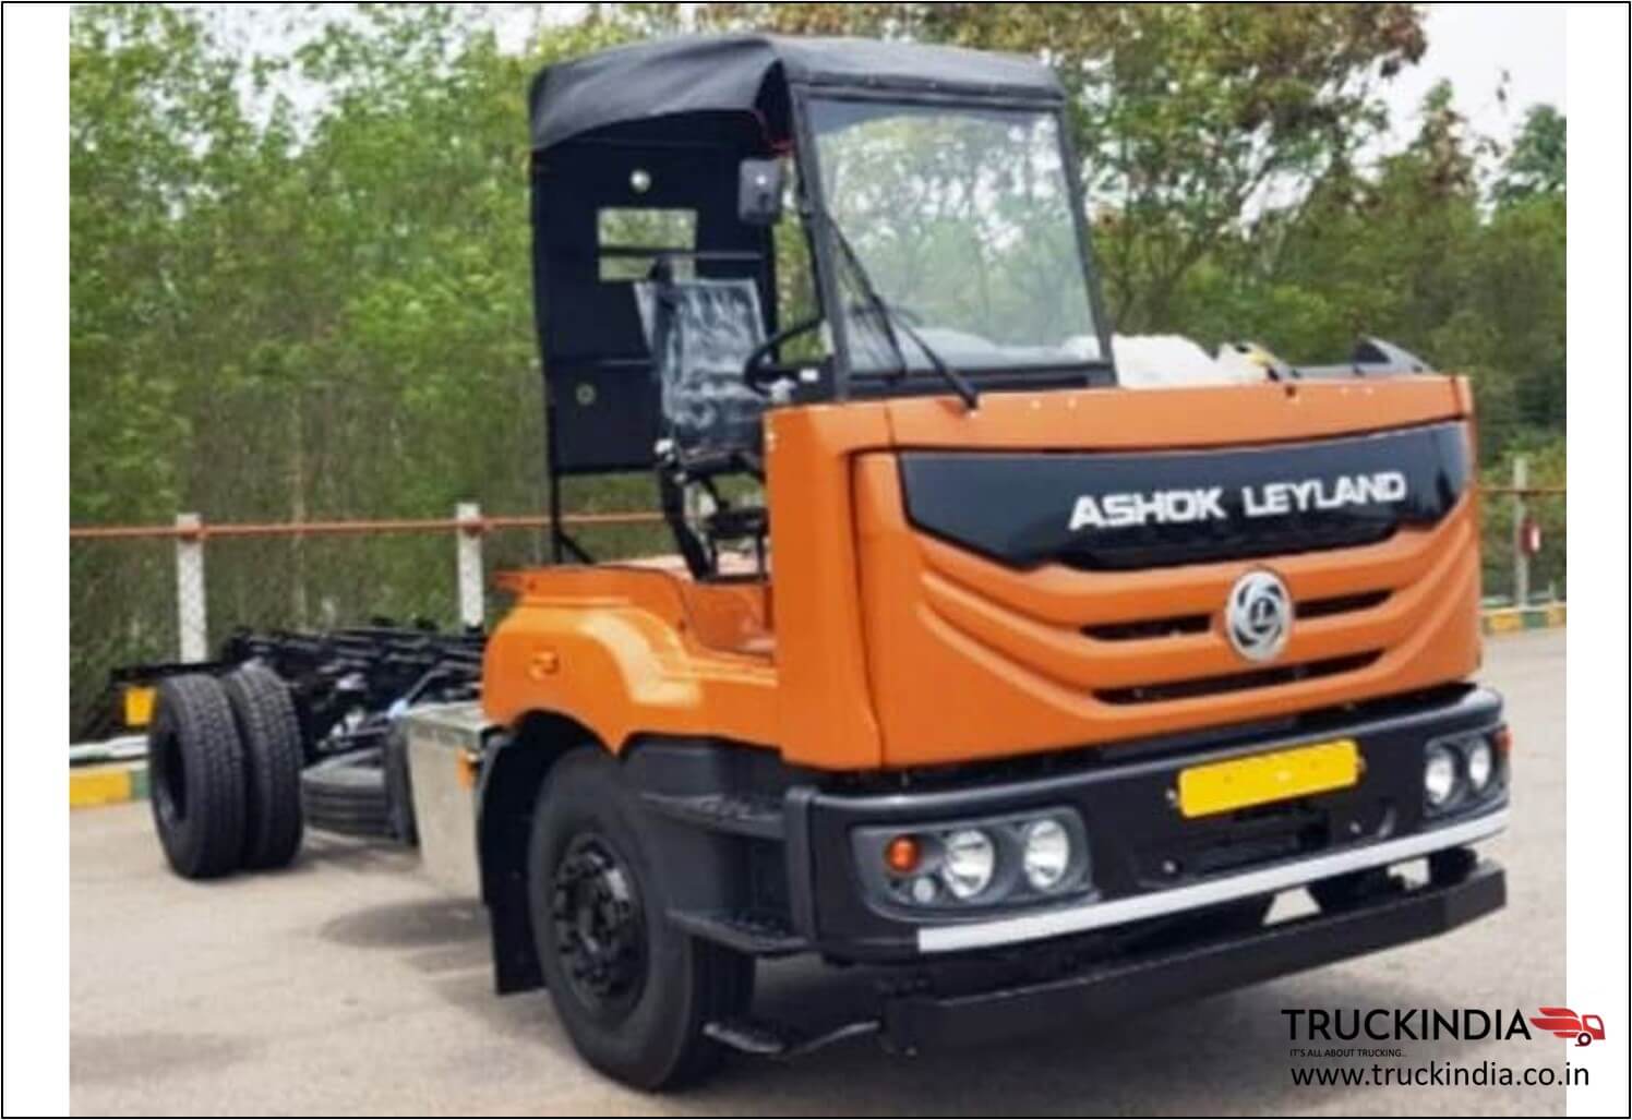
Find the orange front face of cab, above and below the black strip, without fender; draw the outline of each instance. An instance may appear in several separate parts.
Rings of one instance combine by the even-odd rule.
[[[1470,488],[1435,524],[1363,545],[1077,570],[1007,565],[927,534],[904,508],[899,467],[916,449],[1250,451],[1410,428],[1464,411],[1451,379],[991,395],[986,415],[969,416],[927,402],[889,408],[899,451],[854,459],[867,668],[885,766],[1227,727],[1410,692],[1477,668]],[[1002,495],[968,500],[994,504]],[[1309,614],[1263,664],[1224,633],[1232,586],[1258,568]]]

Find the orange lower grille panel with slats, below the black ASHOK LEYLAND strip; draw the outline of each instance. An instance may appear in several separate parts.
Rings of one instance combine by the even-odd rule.
[[[1466,496],[1431,532],[1276,558],[1270,567],[1294,601],[1353,596],[1366,606],[1293,629],[1278,664],[1330,671],[1294,679],[1268,668],[1263,682],[1247,676],[1253,666],[1219,629],[1231,584],[1263,562],[1013,571],[916,534],[889,456],[858,462],[857,506],[886,766],[1226,727],[1408,692],[1477,668],[1479,562]],[[1204,629],[1138,637],[1141,622],[1188,616],[1204,616]]]

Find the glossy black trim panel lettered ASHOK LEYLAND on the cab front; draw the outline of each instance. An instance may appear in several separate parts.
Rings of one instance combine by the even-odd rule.
[[[1459,421],[1224,451],[901,454],[907,519],[1013,568],[1134,570],[1371,544],[1400,526],[1438,522],[1469,472]],[[1335,503],[1343,478],[1394,482],[1395,473],[1397,500]],[[1327,508],[1299,509],[1283,483],[1306,487],[1304,498],[1319,491]],[[1188,496],[1167,506],[1165,495]],[[1090,506],[1079,514],[1084,500]],[[1118,509],[1141,501],[1142,516],[1118,524]]]

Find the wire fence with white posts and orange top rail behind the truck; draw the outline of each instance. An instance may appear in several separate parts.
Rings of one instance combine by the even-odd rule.
[[[566,522],[597,558],[671,550],[667,529],[635,483],[627,493],[571,491]],[[121,666],[207,660],[238,629],[330,630],[377,620],[454,629],[491,625],[508,601],[493,576],[548,563],[540,516],[312,524],[95,527],[69,534],[69,727],[82,738],[111,710]],[[1483,594],[1511,604],[1565,598],[1563,488],[1482,493]],[[1519,526],[1539,544],[1523,555]],[[463,542],[463,544],[462,544]],[[462,555],[480,565],[462,580]],[[473,557],[473,560],[472,560]],[[480,571],[480,578],[477,578]],[[470,601],[477,596],[475,602]]]

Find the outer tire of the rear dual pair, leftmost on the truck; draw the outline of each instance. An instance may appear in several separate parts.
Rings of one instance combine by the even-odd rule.
[[[160,682],[147,735],[149,800],[158,842],[183,878],[215,878],[243,857],[243,748],[212,676]]]

